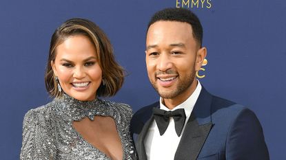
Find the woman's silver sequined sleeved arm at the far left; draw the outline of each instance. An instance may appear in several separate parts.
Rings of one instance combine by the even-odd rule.
[[[47,121],[45,108],[28,111],[23,119],[23,141],[20,159],[55,159],[56,146],[51,137],[52,126]]]

